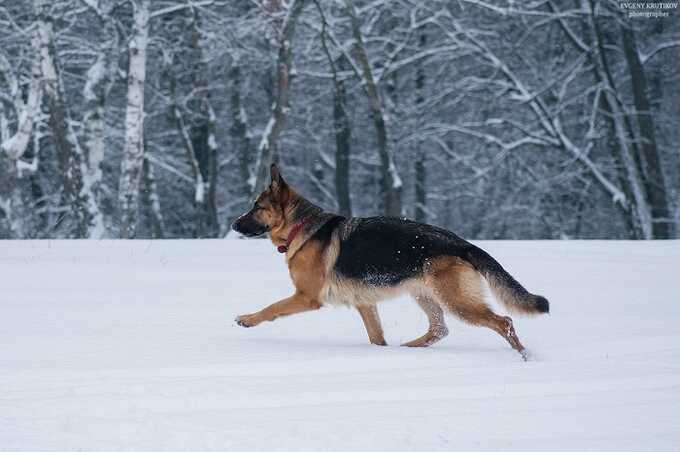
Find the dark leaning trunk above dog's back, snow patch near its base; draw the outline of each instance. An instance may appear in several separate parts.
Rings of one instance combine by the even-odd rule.
[[[380,176],[381,176],[381,191],[383,196],[383,209],[386,215],[401,216],[401,189],[402,182],[394,164],[392,151],[389,148],[387,139],[387,125],[385,122],[385,115],[383,113],[383,105],[378,93],[375,79],[373,77],[373,70],[371,63],[368,60],[368,54],[364,46],[364,39],[361,34],[359,20],[354,10],[352,0],[345,0],[345,6],[350,17],[352,25],[352,35],[354,37],[354,49],[359,59],[359,65],[362,70],[362,83],[371,107],[373,116],[373,125],[375,126],[378,153],[380,156]]]

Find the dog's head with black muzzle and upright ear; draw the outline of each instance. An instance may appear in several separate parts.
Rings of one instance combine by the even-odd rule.
[[[246,237],[262,235],[286,224],[286,206],[293,192],[275,164],[272,164],[270,173],[269,186],[255,199],[253,207],[231,225],[234,231]]]

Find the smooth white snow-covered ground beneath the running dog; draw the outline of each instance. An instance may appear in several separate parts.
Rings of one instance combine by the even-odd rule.
[[[324,308],[244,329],[288,295],[264,240],[0,242],[2,451],[678,451],[680,242],[481,242],[551,315],[534,360],[414,303],[389,347]],[[500,308],[499,308],[500,310]]]

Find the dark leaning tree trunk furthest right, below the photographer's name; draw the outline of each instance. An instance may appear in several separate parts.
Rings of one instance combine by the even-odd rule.
[[[623,24],[620,24],[620,28],[623,38],[623,51],[628,63],[628,71],[633,88],[634,117],[637,121],[638,132],[640,134],[639,141],[642,151],[642,158],[640,159],[642,164],[641,173],[652,211],[652,236],[656,239],[669,239],[673,234],[672,222],[668,207],[666,183],[659,159],[659,150],[656,145],[654,119],[647,94],[647,76],[640,62],[633,29]]]

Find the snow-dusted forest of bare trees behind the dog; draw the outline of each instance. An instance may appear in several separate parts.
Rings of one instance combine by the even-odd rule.
[[[680,11],[0,0],[0,238],[224,237],[278,162],[471,239],[680,230]]]

